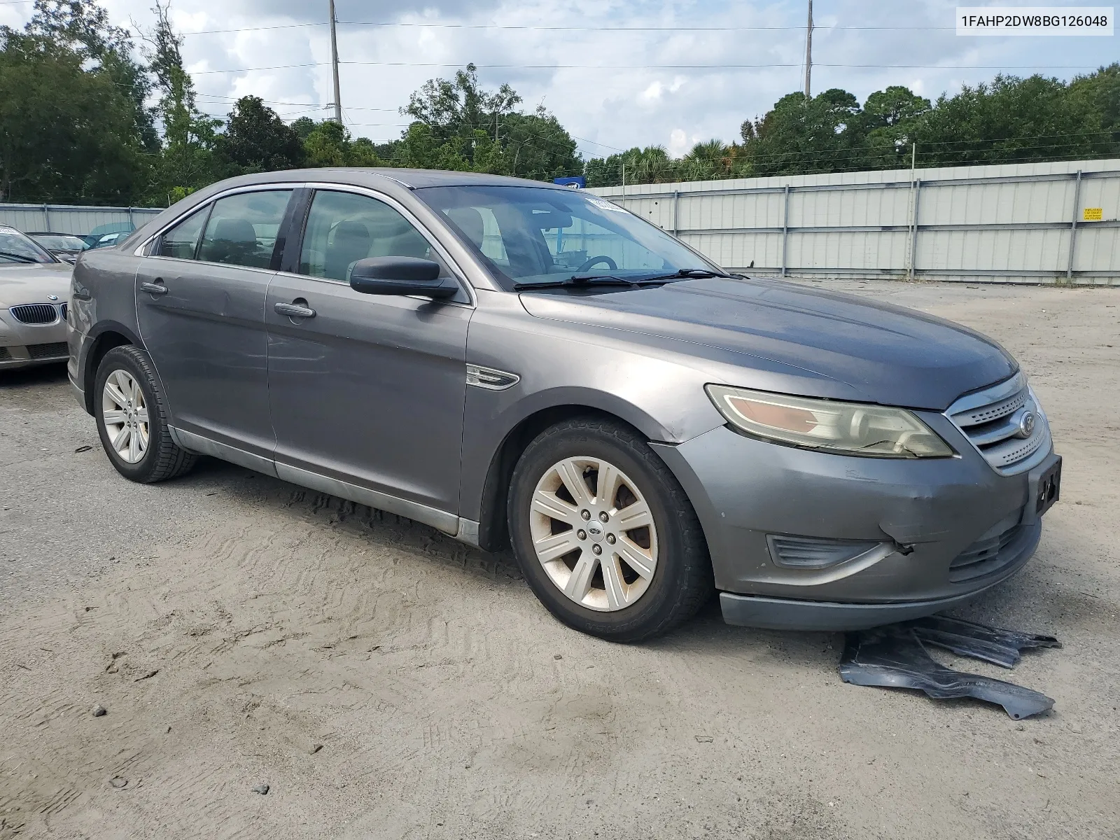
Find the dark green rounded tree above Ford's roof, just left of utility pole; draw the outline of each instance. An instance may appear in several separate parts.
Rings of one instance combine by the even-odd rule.
[[[242,96],[234,103],[216,151],[237,172],[296,169],[304,164],[304,143],[259,96]]]

